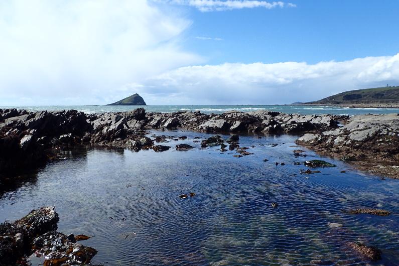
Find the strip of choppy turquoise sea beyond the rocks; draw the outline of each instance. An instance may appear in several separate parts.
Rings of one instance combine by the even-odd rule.
[[[86,113],[104,113],[130,111],[143,107],[147,112],[201,111],[203,113],[223,113],[230,110],[256,111],[270,110],[285,113],[302,114],[365,114],[365,113],[397,113],[395,108],[346,108],[337,106],[309,105],[144,105],[144,106],[108,106],[108,105],[75,105],[75,106],[0,106],[0,108],[18,108],[31,111],[75,109]]]

